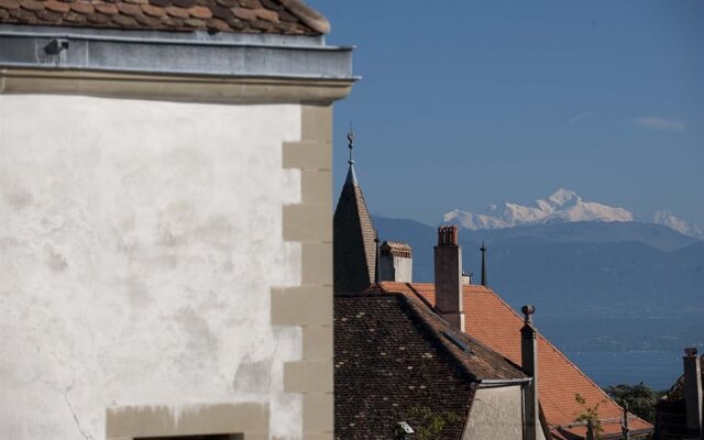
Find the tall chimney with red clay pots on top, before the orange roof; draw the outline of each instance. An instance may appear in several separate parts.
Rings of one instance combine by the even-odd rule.
[[[458,227],[438,228],[436,251],[436,310],[446,321],[464,331],[462,300],[462,248],[458,245]]]

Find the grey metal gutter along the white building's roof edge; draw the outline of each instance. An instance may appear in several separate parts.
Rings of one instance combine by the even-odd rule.
[[[0,25],[0,68],[354,81],[353,47],[320,37]]]

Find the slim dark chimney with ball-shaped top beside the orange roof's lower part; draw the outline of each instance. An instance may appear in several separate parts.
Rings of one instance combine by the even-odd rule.
[[[534,306],[524,306],[524,327],[520,329],[520,364],[532,381],[524,388],[526,408],[526,440],[538,440],[540,429],[538,403],[538,332],[532,327]]]

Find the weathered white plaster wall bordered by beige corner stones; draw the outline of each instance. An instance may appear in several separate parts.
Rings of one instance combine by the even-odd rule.
[[[298,438],[270,289],[298,106],[0,96],[0,432],[102,439],[106,408],[262,402]]]

